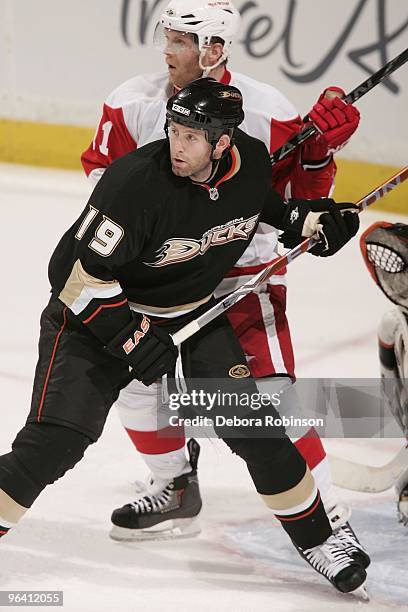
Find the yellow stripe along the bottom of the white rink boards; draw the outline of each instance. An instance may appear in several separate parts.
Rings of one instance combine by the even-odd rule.
[[[0,119],[0,162],[81,170],[81,153],[94,133],[93,128]],[[337,166],[334,197],[344,202],[356,202],[400,169],[344,159]],[[373,208],[408,215],[408,181]]]

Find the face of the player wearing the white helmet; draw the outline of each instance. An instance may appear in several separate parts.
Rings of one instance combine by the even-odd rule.
[[[164,36],[164,55],[170,80],[181,89],[202,76],[198,46],[192,34],[165,30]]]

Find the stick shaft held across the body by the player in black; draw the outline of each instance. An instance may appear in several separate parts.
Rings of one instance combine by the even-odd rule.
[[[387,193],[395,189],[398,185],[408,179],[408,166],[394,174],[390,179],[382,183],[373,191],[370,191],[364,198],[361,198],[356,202],[356,206],[360,208],[360,211],[365,210],[371,204],[374,204],[380,198],[383,198]],[[288,251],[285,255],[275,259],[269,266],[264,270],[261,270],[251,280],[244,283],[241,287],[230,293],[225,298],[217,302],[215,306],[204,312],[202,315],[191,321],[180,330],[172,334],[174,344],[179,345],[192,335],[197,333],[202,327],[210,323],[213,319],[218,317],[220,314],[231,308],[234,304],[242,300],[248,293],[254,291],[259,285],[262,285],[268,278],[282,270],[291,261],[297,259],[302,253],[309,251],[318,240],[314,237],[307,238],[298,244],[295,248]]]

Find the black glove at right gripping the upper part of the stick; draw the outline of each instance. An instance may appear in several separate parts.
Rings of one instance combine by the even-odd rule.
[[[279,240],[292,249],[305,238],[320,239],[309,252],[319,257],[337,253],[358,232],[358,206],[349,202],[320,200],[290,200],[282,223]]]

